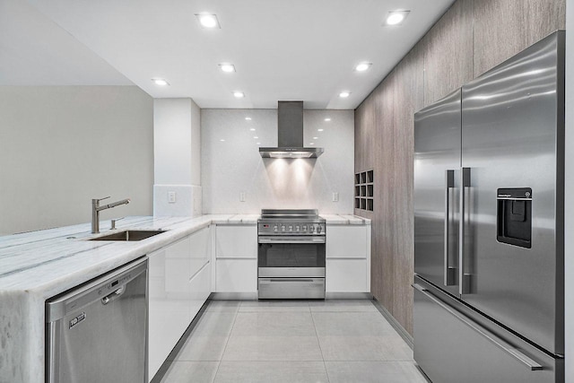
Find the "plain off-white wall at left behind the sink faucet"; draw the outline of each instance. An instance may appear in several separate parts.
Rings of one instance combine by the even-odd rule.
[[[135,86],[0,87],[0,233],[152,213],[152,98]],[[104,227],[108,223],[101,224]]]

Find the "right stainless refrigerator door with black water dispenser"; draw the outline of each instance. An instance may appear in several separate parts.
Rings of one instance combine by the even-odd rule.
[[[470,292],[463,300],[558,354],[564,352],[563,44],[563,32],[552,34],[465,85],[462,97],[462,166],[470,169],[463,217]],[[530,248],[497,240],[497,191],[517,188],[530,190]],[[511,219],[525,219],[522,205],[509,208]]]

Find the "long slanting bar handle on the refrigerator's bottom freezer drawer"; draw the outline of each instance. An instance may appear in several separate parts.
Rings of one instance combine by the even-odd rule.
[[[440,308],[447,310],[449,314],[451,314],[452,316],[463,322],[466,326],[469,326],[480,335],[483,335],[483,337],[491,341],[491,343],[497,345],[504,352],[512,355],[515,359],[517,359],[517,361],[520,361],[522,364],[526,365],[528,370],[531,371],[544,370],[544,367],[540,363],[534,361],[530,357],[526,356],[524,353],[521,353],[517,348],[513,347],[511,344],[502,340],[498,335],[494,335],[493,333],[491,333],[491,331],[487,330],[483,326],[480,326],[471,321],[470,319],[465,318],[463,314],[457,312],[456,309],[451,308],[450,306],[448,306],[448,304],[436,298],[431,292],[429,292],[428,289],[426,289],[422,285],[418,283],[413,283],[411,286],[413,286],[413,288],[418,290],[419,292],[422,292],[428,299],[432,300],[434,303],[439,305]]]

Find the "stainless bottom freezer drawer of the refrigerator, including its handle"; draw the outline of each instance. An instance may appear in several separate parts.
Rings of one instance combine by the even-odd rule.
[[[557,383],[552,358],[415,277],[414,359],[433,382]]]

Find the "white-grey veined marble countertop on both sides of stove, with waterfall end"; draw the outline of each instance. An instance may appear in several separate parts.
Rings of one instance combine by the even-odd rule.
[[[321,215],[327,224],[370,224],[354,215]],[[126,217],[117,231],[165,230],[140,241],[91,241],[90,223],[0,237],[0,381],[44,381],[44,301],[143,257],[210,224],[257,224],[258,214]],[[4,380],[5,379],[5,380]]]

